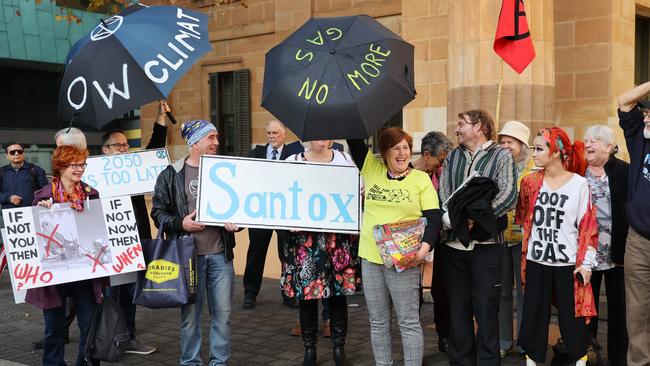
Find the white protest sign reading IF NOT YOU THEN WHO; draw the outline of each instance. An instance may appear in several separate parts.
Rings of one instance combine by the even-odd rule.
[[[129,197],[2,210],[14,291],[145,268]]]

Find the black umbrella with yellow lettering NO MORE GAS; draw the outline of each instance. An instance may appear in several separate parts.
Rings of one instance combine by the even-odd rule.
[[[413,46],[367,15],[312,18],[266,54],[262,106],[304,141],[366,138],[413,98]]]

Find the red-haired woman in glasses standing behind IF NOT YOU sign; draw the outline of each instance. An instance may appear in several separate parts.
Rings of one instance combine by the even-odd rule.
[[[69,202],[71,209],[83,211],[87,198],[99,198],[96,190],[81,181],[87,157],[86,149],[79,150],[73,146],[57,147],[52,155],[52,183],[34,193],[34,205],[49,208],[52,203]],[[99,361],[86,360],[85,346],[95,307],[101,302],[101,296],[101,279],[63,283],[27,291],[25,301],[43,309],[43,365],[65,365],[63,333],[66,297],[72,298],[74,302],[80,332],[75,365],[99,365]]]

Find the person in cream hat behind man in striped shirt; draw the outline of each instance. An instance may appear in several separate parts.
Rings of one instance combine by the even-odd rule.
[[[510,151],[515,160],[517,174],[517,191],[521,178],[530,173],[535,166],[528,148],[530,129],[521,122],[509,121],[503,125],[498,134],[501,146]],[[524,293],[521,286],[521,241],[523,232],[520,225],[515,224],[515,211],[508,212],[508,227],[503,232],[506,248],[503,251],[503,267],[501,273],[501,303],[499,305],[499,349],[501,357],[505,357],[514,346],[512,332],[512,286],[517,285],[517,338],[521,326],[521,309],[524,304]],[[523,353],[521,347],[517,351]]]

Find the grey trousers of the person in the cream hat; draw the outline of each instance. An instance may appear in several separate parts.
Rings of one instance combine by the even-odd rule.
[[[503,250],[501,272],[501,303],[499,305],[499,347],[509,350],[513,344],[512,331],[512,287],[517,285],[517,339],[524,314],[524,293],[521,288],[521,243]]]

